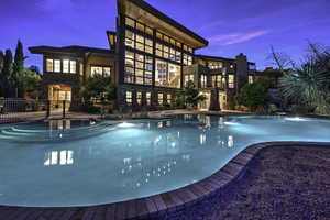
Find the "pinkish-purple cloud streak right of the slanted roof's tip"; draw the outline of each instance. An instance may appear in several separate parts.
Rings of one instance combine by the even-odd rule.
[[[268,33],[271,33],[270,30],[250,31],[250,32],[245,32],[245,33],[230,33],[230,34],[212,36],[209,38],[209,41],[213,44],[231,45],[231,44],[246,42],[252,38],[256,38],[258,36],[266,35]]]

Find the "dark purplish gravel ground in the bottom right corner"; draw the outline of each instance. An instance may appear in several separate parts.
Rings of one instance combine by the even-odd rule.
[[[267,147],[224,190],[158,219],[330,220],[330,147]]]

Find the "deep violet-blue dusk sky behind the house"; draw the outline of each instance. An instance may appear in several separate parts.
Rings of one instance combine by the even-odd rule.
[[[270,65],[270,46],[298,59],[308,41],[330,46],[329,0],[146,0],[156,9],[209,40],[196,54],[234,57],[239,53]],[[106,31],[114,30],[116,0],[1,0],[0,50],[82,45],[109,48]],[[42,56],[29,56],[26,66]]]

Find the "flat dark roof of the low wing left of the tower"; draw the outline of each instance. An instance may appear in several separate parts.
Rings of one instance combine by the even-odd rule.
[[[63,46],[63,47],[55,47],[55,46],[32,46],[29,47],[29,51],[32,54],[48,54],[48,53],[65,53],[65,54],[85,54],[85,53],[94,53],[94,54],[103,54],[103,55],[113,55],[114,51],[107,50],[107,48],[96,48],[96,47],[88,47],[88,46]]]

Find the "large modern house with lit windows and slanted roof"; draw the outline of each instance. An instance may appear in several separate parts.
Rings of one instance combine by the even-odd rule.
[[[189,80],[207,97],[200,109],[232,109],[234,95],[253,80],[255,64],[246,56],[196,55],[208,41],[143,0],[118,0],[117,30],[108,31],[107,37],[108,50],[29,48],[44,57],[43,88],[48,100],[77,99],[79,88],[98,73],[111,76],[118,87],[117,103],[123,109],[173,108]]]

